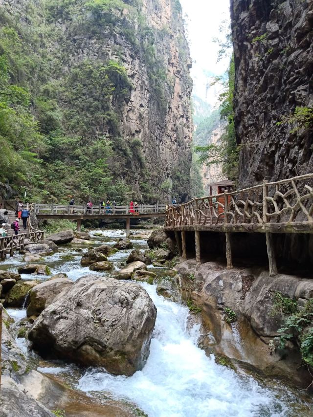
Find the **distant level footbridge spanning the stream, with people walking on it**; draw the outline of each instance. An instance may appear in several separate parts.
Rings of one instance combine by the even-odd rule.
[[[165,204],[140,204],[131,209],[129,205],[93,206],[62,205],[62,204],[33,204],[32,213],[37,219],[70,219],[77,221],[77,230],[81,230],[82,220],[86,219],[126,219],[126,235],[130,235],[130,220],[153,217],[165,217]]]

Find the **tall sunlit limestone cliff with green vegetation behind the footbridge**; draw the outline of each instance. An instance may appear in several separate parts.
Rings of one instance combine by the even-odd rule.
[[[38,156],[51,198],[188,198],[192,81],[179,0],[0,0],[0,11],[34,57],[22,83],[47,137]],[[82,186],[89,162],[102,171]],[[74,171],[58,190],[61,164]]]

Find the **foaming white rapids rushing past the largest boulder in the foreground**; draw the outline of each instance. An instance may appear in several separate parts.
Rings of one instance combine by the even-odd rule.
[[[288,408],[252,378],[217,365],[197,346],[199,329],[187,329],[189,310],[143,284],[157,307],[150,356],[131,377],[89,369],[78,388],[131,400],[149,417],[287,416]]]

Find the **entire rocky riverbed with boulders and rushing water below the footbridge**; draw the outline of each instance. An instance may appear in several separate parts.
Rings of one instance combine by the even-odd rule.
[[[4,416],[53,416],[51,411],[66,417],[310,416],[310,398],[300,391],[273,376],[255,379],[244,368],[236,373],[221,365],[230,364],[208,349],[214,345],[214,331],[193,304],[194,265],[171,260],[161,234],[150,239],[154,249],[148,251],[147,233],[134,233],[128,248],[123,248],[125,234],[120,230],[91,231],[89,241],[77,241],[87,237],[80,236],[73,242],[72,237],[67,244],[58,242],[52,255],[39,254],[42,259],[36,264],[48,269],[37,267],[32,274],[21,270],[21,279],[6,292],[6,299],[25,282],[30,292],[20,307],[8,306],[3,317]],[[0,269],[17,273],[25,264],[21,254],[7,258]],[[194,300],[189,308],[180,298],[188,291],[193,291]],[[106,297],[110,294],[114,300],[117,292],[119,299],[109,314],[103,307]],[[15,303],[21,303],[17,290],[14,293]],[[95,300],[98,315],[89,317],[86,311],[97,311],[90,307]],[[109,324],[104,334],[105,319]],[[139,341],[143,356],[134,353],[138,349],[130,341]],[[115,353],[108,355],[116,346],[117,359]],[[104,357],[108,360],[101,362]]]

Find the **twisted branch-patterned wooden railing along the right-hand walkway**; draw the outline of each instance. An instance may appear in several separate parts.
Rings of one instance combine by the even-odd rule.
[[[313,174],[215,196],[195,198],[166,211],[166,227],[309,223],[313,227]]]

